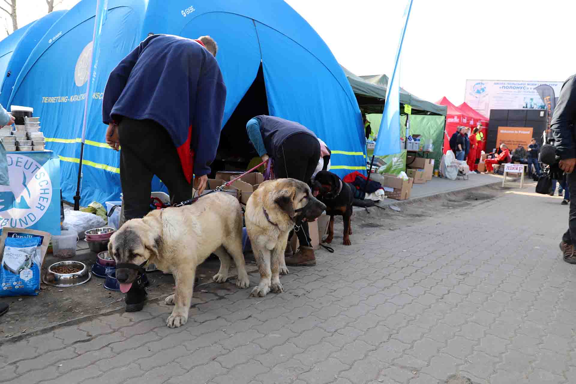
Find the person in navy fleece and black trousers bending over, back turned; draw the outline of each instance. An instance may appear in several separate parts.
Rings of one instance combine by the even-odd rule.
[[[168,187],[172,203],[192,198],[192,174],[199,194],[206,188],[226,99],[214,58],[217,50],[210,36],[191,40],[152,35],[110,74],[102,121],[108,124],[108,145],[115,150],[122,146],[121,222],[142,218],[150,211],[154,175]],[[127,292],[126,311],[144,306],[146,291],[141,280]]]

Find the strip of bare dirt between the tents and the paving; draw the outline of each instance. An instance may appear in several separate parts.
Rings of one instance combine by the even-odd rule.
[[[483,201],[495,199],[510,188],[499,185],[472,188],[464,191],[444,193],[442,195],[426,197],[415,201],[398,201],[393,208],[372,207],[354,208],[352,221],[353,243],[369,239],[379,231],[410,229],[414,223],[429,218],[438,211],[452,211],[454,218],[466,218],[466,207],[477,206]],[[465,223],[463,222],[463,226]],[[334,227],[334,241],[332,246],[338,252],[342,248],[343,225],[341,218],[336,219]],[[323,249],[317,252],[327,252]],[[246,254],[248,273],[257,273],[252,254]],[[80,250],[74,260],[82,261],[87,265],[96,262],[96,254],[90,250]],[[48,255],[44,268],[60,259]],[[217,284],[212,282],[212,276],[218,272],[219,261],[209,258],[200,265],[196,276],[200,282],[194,291],[194,304],[204,303],[221,296],[222,290],[236,290],[233,284],[236,270],[231,271],[229,282]],[[172,275],[165,275],[160,271],[149,272],[150,286],[147,288],[149,301],[164,299],[171,294],[174,288]],[[252,280],[252,279],[251,279]],[[247,292],[247,295],[249,292]],[[70,288],[58,288],[41,284],[40,294],[37,296],[22,296],[20,298],[0,298],[0,302],[10,304],[10,311],[0,318],[0,344],[16,341],[31,334],[39,334],[58,326],[75,324],[89,320],[105,313],[124,311],[124,295],[120,292],[109,291],[104,288],[104,279],[92,276],[88,283]]]

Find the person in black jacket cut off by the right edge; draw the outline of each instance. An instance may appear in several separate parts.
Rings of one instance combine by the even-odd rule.
[[[576,123],[576,75],[569,77],[562,85],[560,97],[551,121],[552,135],[556,146],[556,158],[560,158],[559,166],[567,173],[567,183],[570,194],[576,193],[576,143],[574,142],[574,124]],[[564,261],[576,264],[576,201],[570,200],[568,230],[562,236],[560,249]]]

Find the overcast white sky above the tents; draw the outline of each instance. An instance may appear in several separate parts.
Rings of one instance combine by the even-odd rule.
[[[47,12],[45,0],[17,1],[25,8],[20,25]],[[57,9],[77,2],[64,0]],[[286,2],[344,67],[357,75],[392,74],[407,0]],[[575,14],[576,2],[568,0],[414,0],[400,85],[426,100],[446,96],[458,105],[466,79],[564,81],[576,73]]]

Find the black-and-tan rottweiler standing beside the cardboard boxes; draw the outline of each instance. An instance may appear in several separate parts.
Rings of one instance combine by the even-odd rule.
[[[317,196],[317,199],[325,204],[326,214],[330,216],[328,237],[325,240],[328,244],[334,238],[334,216],[342,215],[344,218],[344,241],[342,244],[351,245],[353,188],[327,170],[321,170],[312,180],[312,195]]]

